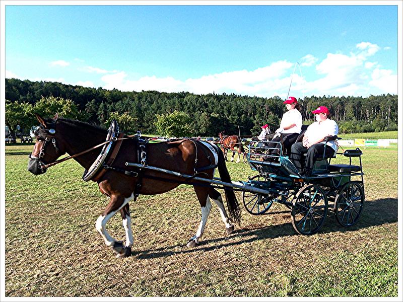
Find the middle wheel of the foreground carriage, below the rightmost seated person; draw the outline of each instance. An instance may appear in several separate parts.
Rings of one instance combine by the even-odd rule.
[[[316,185],[305,185],[295,195],[291,218],[294,230],[301,235],[313,235],[326,218],[327,198]]]

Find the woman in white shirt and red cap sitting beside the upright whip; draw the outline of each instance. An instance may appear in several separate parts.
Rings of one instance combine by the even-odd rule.
[[[280,139],[283,139],[283,154],[290,156],[291,146],[297,140],[298,135],[301,133],[301,106],[298,104],[297,99],[294,97],[289,97],[283,103],[286,104],[288,111],[284,113],[283,118],[281,119],[280,128],[276,130],[276,133],[278,135],[272,139],[272,142],[280,141]],[[280,137],[280,134],[283,134],[282,137]],[[279,143],[270,143],[268,146],[271,148],[280,148]],[[271,149],[270,153],[276,154],[277,149]]]

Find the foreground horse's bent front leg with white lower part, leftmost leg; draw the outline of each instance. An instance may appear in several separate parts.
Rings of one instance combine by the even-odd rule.
[[[123,243],[121,241],[116,241],[109,235],[105,226],[108,220],[112,218],[121,208],[123,208],[131,199],[133,199],[133,194],[131,194],[131,196],[128,198],[124,198],[122,195],[112,195],[108,206],[102,215],[98,217],[96,222],[97,231],[101,234],[105,244],[108,247],[111,247],[112,250],[117,254],[116,257],[124,257],[126,249],[123,247]]]

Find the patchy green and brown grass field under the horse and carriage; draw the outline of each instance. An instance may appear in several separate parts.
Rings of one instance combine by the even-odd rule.
[[[125,259],[95,230],[108,202],[97,184],[81,180],[75,161],[33,176],[31,150],[6,147],[8,297],[397,296],[396,149],[364,150],[366,203],[350,229],[329,210],[318,234],[297,235],[289,210],[275,203],[262,216],[243,209],[227,236],[213,204],[203,241],[187,248],[201,213],[192,187],[181,185],[130,203],[135,245]],[[227,166],[234,181],[255,174]],[[124,239],[120,215],[108,231]]]

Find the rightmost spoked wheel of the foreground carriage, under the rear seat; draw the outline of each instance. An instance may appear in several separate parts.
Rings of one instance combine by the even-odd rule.
[[[334,215],[343,226],[357,223],[364,207],[364,190],[360,183],[351,181],[343,186],[334,202]]]

